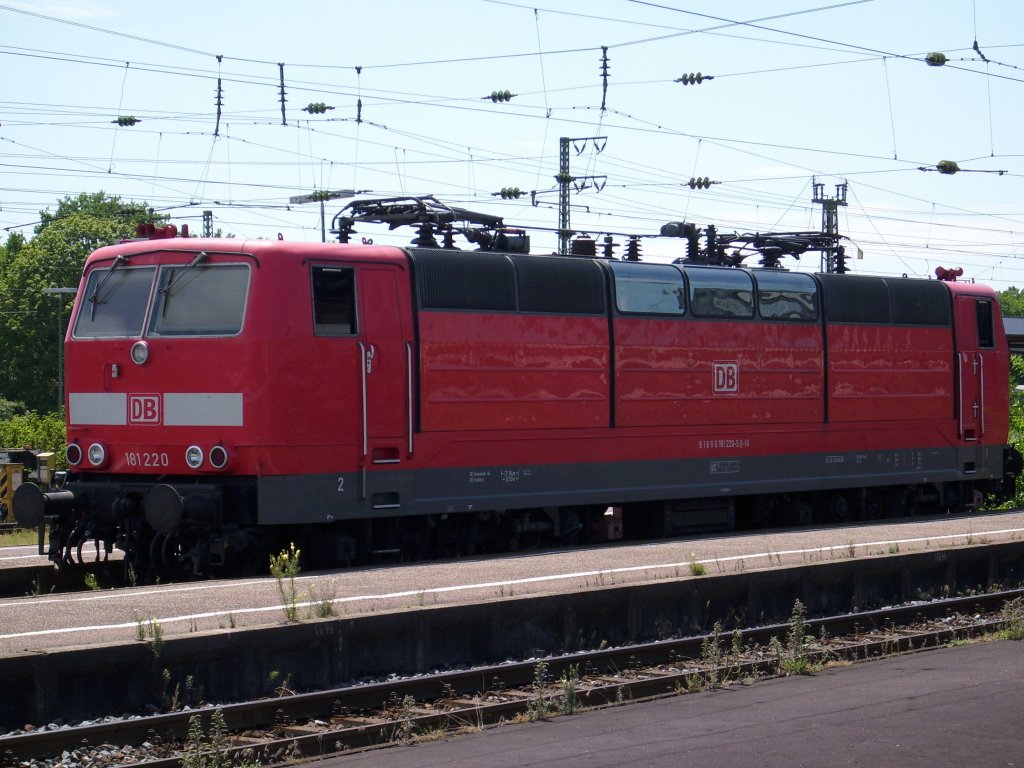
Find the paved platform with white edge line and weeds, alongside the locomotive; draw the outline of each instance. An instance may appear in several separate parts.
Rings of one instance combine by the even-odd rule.
[[[509,597],[807,565],[894,553],[941,551],[1024,539],[1024,512],[915,519],[844,528],[792,529],[678,539],[488,559],[426,562],[301,574],[299,614],[333,603],[336,615],[496,601]],[[32,549],[4,553],[24,564]],[[199,582],[0,600],[0,656],[82,645],[136,642],[140,626],[165,638],[272,626],[285,621],[276,582]],[[1022,723],[1024,726],[1024,723]]]

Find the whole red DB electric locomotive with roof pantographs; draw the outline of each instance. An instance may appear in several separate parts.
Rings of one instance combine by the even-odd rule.
[[[94,542],[138,574],[262,569],[289,541],[419,557],[607,536],[609,510],[664,536],[1012,488],[988,288],[711,266],[727,241],[693,230],[684,263],[530,256],[435,201],[346,210],[341,240],[376,218],[417,223],[416,247],[156,237],[89,257],[70,472],[13,503],[48,519],[55,562]],[[774,263],[781,241],[757,242]]]

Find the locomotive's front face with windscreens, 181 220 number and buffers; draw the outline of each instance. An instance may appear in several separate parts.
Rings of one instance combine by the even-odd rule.
[[[188,243],[122,244],[86,264],[65,341],[69,476],[59,496],[30,488],[20,505],[28,523],[52,516],[59,564],[90,540],[135,568],[170,562],[187,546],[181,523],[209,527],[245,495],[204,476],[240,460],[245,381],[223,361],[244,354],[255,265]],[[194,569],[207,557],[190,553]]]

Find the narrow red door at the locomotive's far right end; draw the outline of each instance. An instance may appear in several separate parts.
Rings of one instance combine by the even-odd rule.
[[[992,302],[957,296],[953,302],[956,328],[957,418],[959,437],[979,440],[985,434],[985,361],[995,348]]]

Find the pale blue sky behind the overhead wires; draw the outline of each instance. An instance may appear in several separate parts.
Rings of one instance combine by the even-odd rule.
[[[100,189],[194,229],[212,210],[237,237],[318,241],[318,207],[288,199],[339,188],[553,228],[559,138],[606,136],[571,153],[604,184],[573,195],[578,229],[818,229],[812,179],[829,197],[845,180],[854,271],[1024,288],[1020,0],[0,0],[0,227],[26,234]],[[715,79],[674,82],[697,72]],[[964,171],[918,170],[944,160]],[[492,195],[506,186],[541,205]]]

